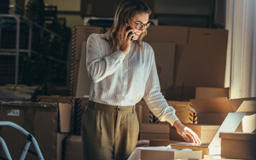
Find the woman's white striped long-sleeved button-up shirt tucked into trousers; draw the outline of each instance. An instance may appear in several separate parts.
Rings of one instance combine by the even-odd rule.
[[[173,125],[178,118],[160,92],[152,47],[143,42],[139,49],[131,42],[128,54],[121,50],[112,53],[104,37],[108,38],[109,32],[94,33],[87,39],[90,100],[113,106],[134,106],[144,99],[154,116]]]

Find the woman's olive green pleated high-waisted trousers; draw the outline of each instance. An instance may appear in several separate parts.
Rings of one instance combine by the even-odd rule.
[[[89,101],[82,119],[86,160],[125,160],[137,145],[135,106],[108,106]]]

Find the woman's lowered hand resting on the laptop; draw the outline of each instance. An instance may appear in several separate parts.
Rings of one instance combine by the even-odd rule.
[[[187,142],[189,142],[189,137],[193,140],[194,143],[201,143],[201,140],[195,134],[195,132],[188,127],[184,126],[183,123],[181,123],[179,120],[177,120],[175,123],[173,123],[174,127],[177,130],[177,133],[183,136],[183,139]],[[189,137],[188,137],[189,135]]]

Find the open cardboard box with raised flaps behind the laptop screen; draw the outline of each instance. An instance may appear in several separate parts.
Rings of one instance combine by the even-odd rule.
[[[190,102],[197,113],[197,123],[200,124],[220,125],[223,123],[224,118],[229,112],[247,112],[248,116],[255,115],[256,112],[256,98],[228,100],[227,97],[220,97],[212,99],[195,99],[190,100]],[[247,118],[245,118],[245,121],[246,119]],[[247,125],[254,125],[255,127],[255,123]]]

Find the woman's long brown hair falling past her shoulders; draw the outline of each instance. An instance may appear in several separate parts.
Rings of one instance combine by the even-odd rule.
[[[121,39],[125,34],[125,27],[129,20],[131,20],[135,14],[138,13],[148,13],[151,14],[151,10],[148,5],[142,0],[123,0],[119,3],[119,7],[115,12],[113,26],[110,28],[110,37],[106,39],[111,51],[115,51],[120,48]],[[141,42],[143,37],[147,34],[147,30],[138,37],[137,43],[139,48],[141,48]]]

